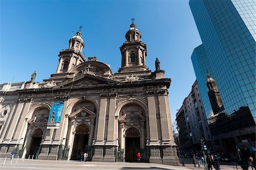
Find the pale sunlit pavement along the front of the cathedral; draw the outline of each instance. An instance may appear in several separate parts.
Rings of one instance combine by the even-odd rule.
[[[84,161],[70,161],[70,160],[28,160],[28,159],[14,159],[11,163],[10,159],[5,161],[0,159],[0,169],[6,170],[67,170],[67,169],[93,169],[93,170],[131,170],[131,169],[150,169],[150,170],[191,170],[200,169],[195,168],[193,165],[187,166],[171,166],[163,164],[152,164],[152,163],[125,163],[125,162],[84,162]],[[203,170],[203,169],[201,169]]]

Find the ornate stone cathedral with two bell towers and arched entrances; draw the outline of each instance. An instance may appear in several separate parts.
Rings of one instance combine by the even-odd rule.
[[[90,161],[141,161],[179,165],[168,101],[170,78],[160,62],[146,66],[147,46],[134,22],[113,73],[82,55],[81,30],[59,53],[56,73],[42,83],[0,85],[0,157]]]

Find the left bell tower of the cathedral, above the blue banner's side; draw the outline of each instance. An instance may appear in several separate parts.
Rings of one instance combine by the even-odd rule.
[[[69,40],[69,48],[63,49],[59,54],[59,65],[56,73],[67,73],[76,65],[85,62],[85,57],[82,55],[84,48],[84,40],[82,40],[81,28],[76,32],[76,35]]]

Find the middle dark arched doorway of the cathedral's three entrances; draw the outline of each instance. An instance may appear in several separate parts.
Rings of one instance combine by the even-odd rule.
[[[76,134],[73,142],[71,159],[80,159],[81,153],[85,151],[85,146],[88,145],[90,129],[87,125],[82,124],[76,128]]]

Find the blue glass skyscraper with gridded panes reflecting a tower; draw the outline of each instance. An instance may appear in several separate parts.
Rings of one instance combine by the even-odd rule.
[[[190,0],[189,6],[203,44],[191,59],[205,114],[212,108],[207,75],[218,86],[226,114],[248,106],[256,122],[255,38],[256,3],[253,0]]]

